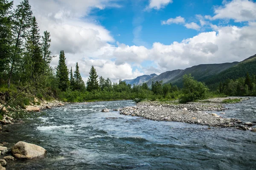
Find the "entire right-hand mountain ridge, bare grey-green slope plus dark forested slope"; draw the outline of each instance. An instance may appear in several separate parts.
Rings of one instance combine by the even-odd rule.
[[[247,71],[249,74],[256,74],[256,54],[245,59],[242,62],[227,62],[221,64],[201,64],[195,65],[185,70],[166,71],[157,77],[149,79],[146,83],[150,87],[152,81],[172,83],[178,87],[182,87],[182,79],[184,74],[191,74],[196,80],[206,82],[207,85],[216,82],[225,81],[226,79],[236,79],[245,77]]]

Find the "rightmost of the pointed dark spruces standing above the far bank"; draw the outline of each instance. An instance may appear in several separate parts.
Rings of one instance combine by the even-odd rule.
[[[99,89],[99,83],[98,83],[98,75],[96,72],[96,69],[93,67],[91,67],[90,72],[89,72],[90,76],[88,78],[88,81],[86,83],[87,85],[87,91],[96,91]]]

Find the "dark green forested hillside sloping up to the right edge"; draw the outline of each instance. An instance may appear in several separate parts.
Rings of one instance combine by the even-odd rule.
[[[256,54],[242,62],[239,62],[239,64],[206,79],[205,83],[207,85],[214,85],[218,84],[219,82],[224,82],[226,79],[237,79],[239,77],[245,77],[247,72],[250,75],[256,74]]]

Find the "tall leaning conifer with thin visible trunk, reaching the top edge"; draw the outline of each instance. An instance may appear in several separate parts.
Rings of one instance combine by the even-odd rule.
[[[10,58],[10,71],[8,77],[8,88],[11,85],[12,74],[15,67],[20,63],[23,54],[23,40],[27,37],[28,29],[31,27],[32,11],[28,0],[23,0],[14,11],[14,26],[12,28],[14,49]]]

